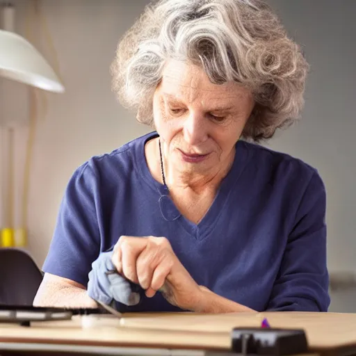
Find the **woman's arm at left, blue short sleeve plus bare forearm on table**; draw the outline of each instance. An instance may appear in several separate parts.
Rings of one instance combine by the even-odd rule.
[[[88,273],[100,245],[95,191],[95,166],[86,163],[74,172],[65,189],[34,305],[96,306],[86,293]]]

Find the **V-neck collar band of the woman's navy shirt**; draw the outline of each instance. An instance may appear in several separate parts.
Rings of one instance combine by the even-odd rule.
[[[149,184],[149,186],[151,186],[151,188],[156,191],[158,202],[162,195],[168,194],[168,191],[163,184],[161,184],[159,181],[156,181],[156,179],[152,177],[145,158],[145,144],[149,140],[152,140],[156,137],[159,137],[159,134],[154,131],[152,133],[148,133],[140,139],[140,143],[136,145],[135,149],[135,161],[137,163],[136,168],[140,172],[141,177],[143,177],[147,184]],[[172,223],[179,223],[186,230],[186,232],[188,232],[188,234],[191,234],[191,236],[197,238],[198,240],[207,237],[211,230],[216,227],[220,215],[225,209],[225,204],[227,204],[232,188],[234,184],[236,184],[238,178],[241,176],[241,173],[243,172],[243,169],[248,162],[248,156],[249,150],[245,145],[245,142],[238,140],[236,143],[236,152],[234,162],[232,163],[232,168],[229,170],[226,177],[221,181],[220,187],[216,193],[216,197],[202,220],[195,224],[179,213],[179,217],[172,219]],[[172,200],[170,200],[170,202],[172,207],[174,207],[173,209],[177,209]]]

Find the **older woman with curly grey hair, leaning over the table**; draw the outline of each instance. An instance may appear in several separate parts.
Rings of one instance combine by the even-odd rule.
[[[326,311],[325,188],[258,145],[298,117],[308,65],[259,0],[161,0],[114,88],[156,131],[74,173],[35,305]]]

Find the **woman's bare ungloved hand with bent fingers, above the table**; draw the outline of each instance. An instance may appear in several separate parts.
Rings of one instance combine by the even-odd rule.
[[[151,298],[161,291],[170,304],[196,311],[203,291],[181,264],[165,237],[121,236],[113,250],[118,273],[140,284]]]

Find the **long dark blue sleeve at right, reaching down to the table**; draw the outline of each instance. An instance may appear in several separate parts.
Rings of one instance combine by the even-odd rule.
[[[326,194],[314,172],[296,214],[267,310],[327,312]]]

